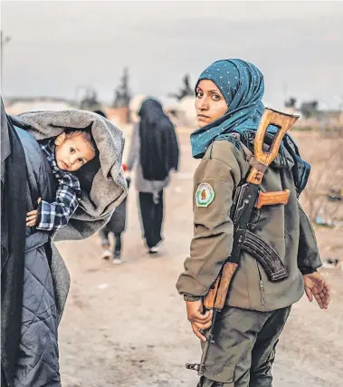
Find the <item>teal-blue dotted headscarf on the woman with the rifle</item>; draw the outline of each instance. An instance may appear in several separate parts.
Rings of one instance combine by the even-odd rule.
[[[200,74],[195,90],[201,80],[211,80],[222,93],[228,110],[219,119],[197,129],[191,134],[192,154],[195,159],[204,157],[209,145],[215,140],[227,139],[230,132],[246,135],[257,131],[264,111],[262,96],[264,80],[260,70],[252,63],[241,59],[226,59],[212,63]],[[267,132],[274,134],[278,128],[270,125]],[[310,164],[300,159],[295,142],[290,135],[284,137],[286,146],[295,162],[295,183],[300,193],[305,188],[310,174]],[[281,147],[281,148],[282,148]]]

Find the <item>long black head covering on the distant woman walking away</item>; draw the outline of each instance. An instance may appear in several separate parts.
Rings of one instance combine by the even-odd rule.
[[[147,180],[164,180],[170,169],[178,167],[178,145],[173,123],[153,98],[146,99],[138,111],[140,164]]]

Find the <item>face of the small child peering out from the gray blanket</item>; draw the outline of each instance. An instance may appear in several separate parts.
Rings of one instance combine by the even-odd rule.
[[[59,169],[74,172],[95,157],[95,150],[82,135],[67,138],[65,133],[55,139],[55,159]]]

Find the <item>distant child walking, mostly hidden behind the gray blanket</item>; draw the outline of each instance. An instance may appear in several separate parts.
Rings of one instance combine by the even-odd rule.
[[[125,164],[123,164],[123,170],[126,171],[127,167]],[[130,179],[127,178],[127,184],[129,189],[129,182]],[[112,262],[113,264],[121,264],[121,234],[125,231],[126,226],[126,205],[127,205],[127,198],[124,198],[124,200],[119,204],[119,206],[114,210],[113,215],[110,218],[109,223],[106,224],[105,227],[100,228],[99,236],[101,238],[101,247],[103,248],[103,253],[101,255],[101,258],[103,259],[110,259],[110,256],[112,256]],[[114,248],[113,248],[113,255],[110,252],[110,240],[109,235],[110,233],[113,233],[114,235]]]

